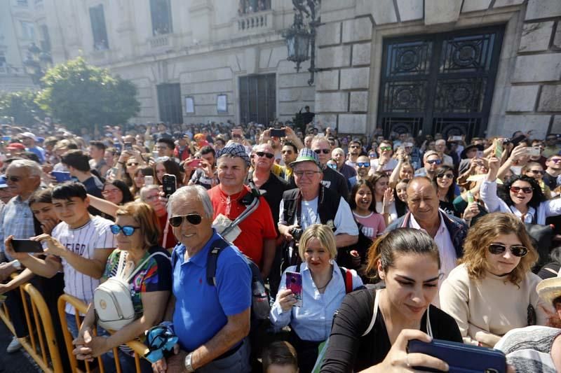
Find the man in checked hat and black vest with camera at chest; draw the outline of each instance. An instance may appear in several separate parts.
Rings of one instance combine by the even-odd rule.
[[[342,196],[321,183],[327,169],[322,170],[318,155],[304,148],[290,167],[294,169],[297,188],[284,192],[280,202],[280,234],[291,242],[298,239],[294,237],[297,230],[306,230],[312,224],[325,224],[334,230],[337,248],[356,244],[358,227],[351,208]],[[286,252],[283,255],[288,260],[292,256]],[[338,262],[344,257],[339,255]]]

